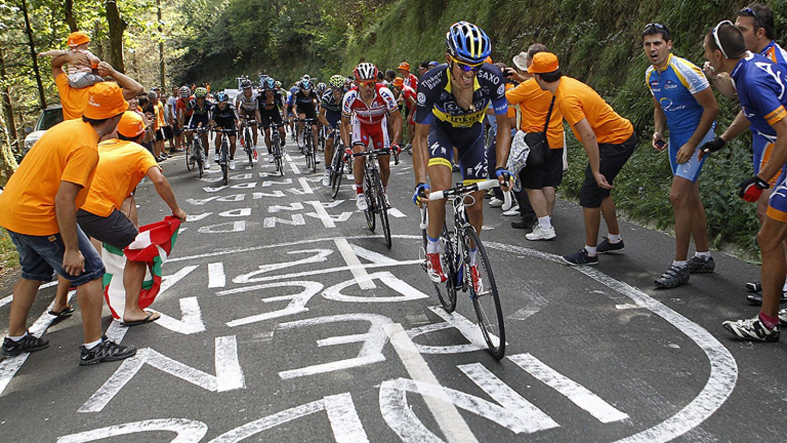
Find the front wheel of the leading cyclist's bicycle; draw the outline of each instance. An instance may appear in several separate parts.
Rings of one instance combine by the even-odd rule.
[[[464,229],[465,247],[470,250],[471,244],[475,244],[478,252],[475,253],[475,266],[478,270],[477,279],[472,275],[469,266],[465,266],[467,275],[470,277],[470,298],[473,301],[475,315],[478,317],[478,326],[486,341],[486,346],[494,358],[500,360],[505,355],[505,327],[503,323],[503,308],[500,305],[500,297],[497,294],[497,285],[492,274],[492,265],[489,257],[486,257],[486,249],[474,227]]]

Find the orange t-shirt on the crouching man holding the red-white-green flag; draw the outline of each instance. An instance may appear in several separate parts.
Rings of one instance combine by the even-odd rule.
[[[96,175],[82,209],[109,216],[153,167],[158,168],[153,154],[135,142],[113,138],[99,143]]]

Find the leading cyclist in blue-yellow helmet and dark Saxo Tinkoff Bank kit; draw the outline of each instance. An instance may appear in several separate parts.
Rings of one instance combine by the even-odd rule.
[[[413,169],[416,192],[413,201],[427,197],[434,190],[451,187],[453,148],[459,153],[464,183],[478,183],[489,177],[482,121],[490,102],[496,115],[508,112],[505,79],[500,68],[486,63],[492,45],[486,33],[466,21],[452,24],[445,33],[446,63],[427,72],[418,83],[416,94],[416,134],[413,140]],[[497,138],[497,164],[506,164],[511,145],[508,119],[501,119]],[[427,184],[427,173],[430,185]],[[497,168],[495,175],[507,182],[510,172]],[[467,216],[481,234],[483,191],[472,195]],[[440,259],[440,233],[445,221],[445,200],[427,206],[427,273],[434,282],[445,282]],[[477,250],[477,249],[476,249]],[[471,279],[479,285],[475,251],[471,249]]]

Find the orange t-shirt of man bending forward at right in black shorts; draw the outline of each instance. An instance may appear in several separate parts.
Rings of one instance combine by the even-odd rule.
[[[599,143],[618,145],[634,134],[634,126],[629,120],[615,113],[615,109],[604,102],[604,98],[578,79],[560,77],[560,84],[555,91],[555,106],[563,113],[579,141],[582,138],[577,134],[575,124],[582,119],[588,120]]]

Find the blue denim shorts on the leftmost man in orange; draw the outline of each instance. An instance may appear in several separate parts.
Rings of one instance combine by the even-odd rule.
[[[17,246],[19,263],[22,265],[22,278],[36,282],[51,282],[55,271],[71,280],[73,286],[81,286],[104,275],[104,264],[101,256],[91,245],[87,235],[76,227],[79,239],[79,252],[85,259],[85,270],[82,274],[74,276],[63,269],[63,253],[65,245],[60,234],[53,235],[26,235],[8,231],[13,245]]]

